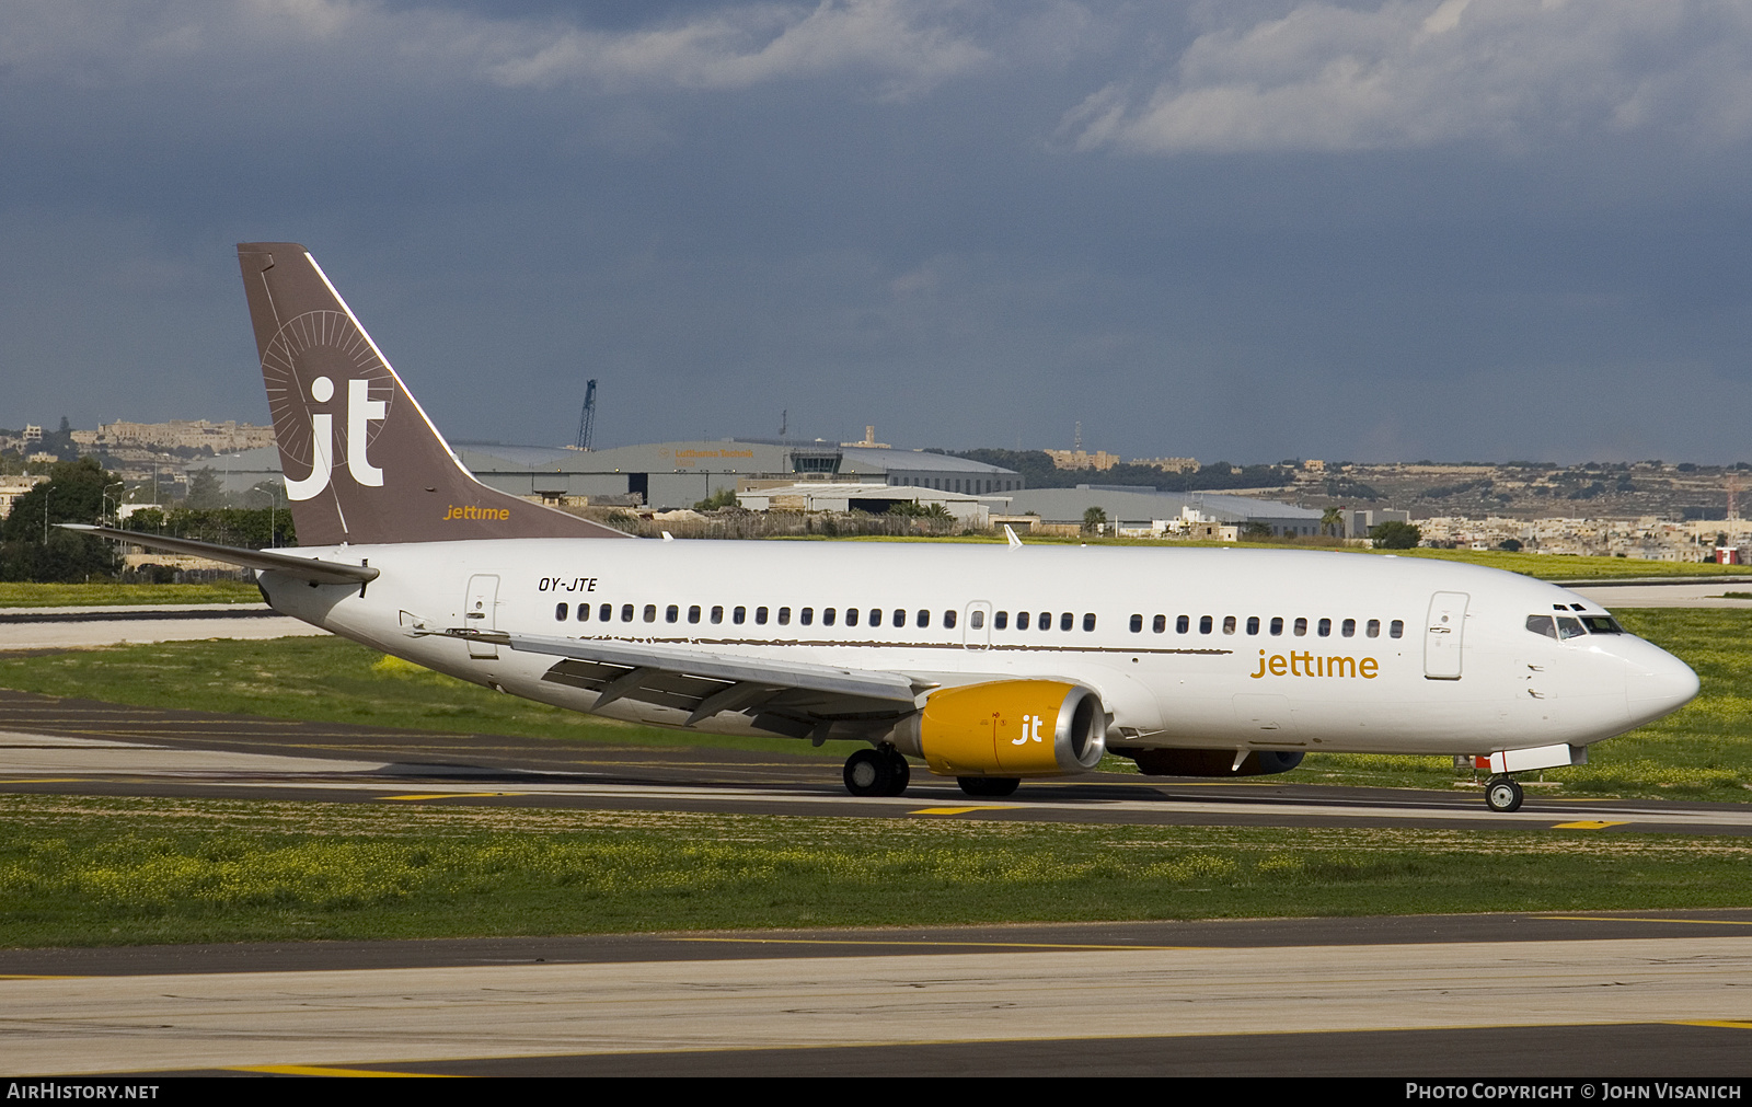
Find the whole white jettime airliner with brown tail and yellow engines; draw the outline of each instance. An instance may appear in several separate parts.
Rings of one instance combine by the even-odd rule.
[[[1244,776],[1303,753],[1517,771],[1698,694],[1573,592],[1410,557],[1223,548],[638,541],[477,482],[305,247],[238,247],[298,538],[238,550],[279,611],[440,673],[615,718],[860,743],[969,795],[1086,772]]]

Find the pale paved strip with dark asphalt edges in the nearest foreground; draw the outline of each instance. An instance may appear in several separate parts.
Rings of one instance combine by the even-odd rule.
[[[0,1068],[1745,1075],[1748,928],[1713,911],[0,953]]]

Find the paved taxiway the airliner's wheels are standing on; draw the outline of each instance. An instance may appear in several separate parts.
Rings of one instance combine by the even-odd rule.
[[[0,690],[0,790],[81,795],[492,804],[858,818],[1223,827],[1582,828],[1752,834],[1752,804],[1554,799],[1514,814],[1454,792],[1097,772],[976,800],[925,772],[901,797],[851,797],[837,758],[603,746],[303,723]]]

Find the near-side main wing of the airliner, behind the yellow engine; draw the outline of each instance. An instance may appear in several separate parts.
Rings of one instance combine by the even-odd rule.
[[[836,723],[839,730],[834,737],[851,737],[860,729],[887,729],[918,709],[922,692],[937,687],[902,673],[732,657],[710,650],[413,627],[413,634],[433,632],[557,657],[541,680],[590,688],[601,695],[597,708],[634,699],[685,709],[689,727],[720,711],[741,711],[762,730],[818,741],[825,741]]]

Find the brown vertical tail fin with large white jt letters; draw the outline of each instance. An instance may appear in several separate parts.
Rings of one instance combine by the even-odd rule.
[[[627,538],[475,480],[305,247],[237,257],[301,545]]]

